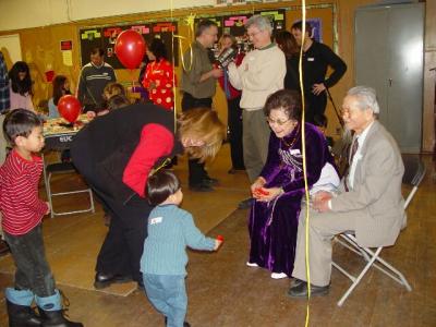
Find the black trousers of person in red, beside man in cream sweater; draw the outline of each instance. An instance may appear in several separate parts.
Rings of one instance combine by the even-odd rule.
[[[239,106],[241,97],[227,100],[230,156],[234,169],[245,169],[242,150],[242,109]]]

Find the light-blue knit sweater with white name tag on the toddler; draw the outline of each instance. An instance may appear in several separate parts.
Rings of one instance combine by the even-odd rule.
[[[175,205],[157,206],[148,217],[141,271],[154,275],[186,275],[186,246],[213,251],[215,240],[194,225],[192,215]]]

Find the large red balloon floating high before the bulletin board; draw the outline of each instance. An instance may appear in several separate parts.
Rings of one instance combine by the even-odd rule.
[[[136,69],[145,55],[145,41],[143,36],[133,29],[121,32],[116,40],[116,55],[128,69]]]

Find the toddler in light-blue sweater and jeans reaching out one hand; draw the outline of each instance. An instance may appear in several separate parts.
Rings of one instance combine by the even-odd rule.
[[[170,171],[148,178],[147,196],[156,208],[148,217],[148,237],[141,258],[148,300],[166,317],[167,327],[189,327],[184,322],[187,296],[186,246],[216,251],[222,241],[206,238],[194,225],[192,215],[181,208],[180,181]]]

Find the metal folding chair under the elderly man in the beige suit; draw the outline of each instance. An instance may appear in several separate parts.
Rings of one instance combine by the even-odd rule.
[[[417,187],[420,186],[422,180],[424,179],[425,166],[417,156],[403,157],[403,162],[404,162],[404,175],[402,178],[402,182],[403,184],[409,184],[412,186],[412,190],[410,191],[404,202],[404,209],[407,209],[411,199],[415,195]],[[363,276],[372,266],[379,269],[382,272],[386,274],[395,281],[405,287],[408,291],[412,291],[412,288],[410,287],[404,276],[379,256],[384,246],[379,246],[375,251],[368,247],[362,247],[358,244],[355,235],[351,232],[341,233],[340,235],[338,235],[336,241],[341,245],[346,246],[347,249],[349,249],[350,251],[354,252],[355,254],[362,256],[366,261],[366,265],[363,268],[363,270],[359,274],[359,276],[351,275],[349,271],[343,269],[335,262],[331,263],[331,265],[335,268],[337,268],[340,272],[346,275],[352,281],[350,288],[337,303],[338,306],[342,306],[343,302],[346,302],[347,298],[351,294],[351,292],[354,290],[354,288],[358,286],[358,283],[362,280]]]

